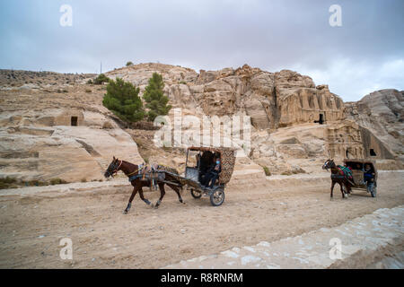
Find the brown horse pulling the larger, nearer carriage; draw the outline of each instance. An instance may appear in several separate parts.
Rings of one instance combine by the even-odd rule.
[[[119,159],[113,157],[113,160],[110,162],[110,166],[104,173],[104,177],[105,178],[113,177],[115,174],[118,173],[119,170],[122,170],[122,172],[125,173],[125,175],[127,175],[128,178],[130,178],[138,173],[139,166],[127,161],[120,161]],[[150,182],[148,182],[147,180],[142,180],[142,178],[136,178],[132,180],[130,183],[133,186],[133,192],[129,198],[129,203],[127,204],[127,208],[125,209],[124,213],[126,214],[129,212],[130,207],[132,206],[132,201],[135,198],[137,192],[139,192],[139,196],[145,202],[145,204],[151,205],[152,207],[154,206],[154,208],[158,208],[159,205],[162,203],[162,197],[164,197],[165,195],[164,185],[171,187],[177,193],[180,203],[184,204],[184,201],[182,200],[182,197],[180,195],[180,188],[178,187],[178,186],[182,187],[180,182],[178,182],[178,180],[173,178],[170,175],[170,173],[165,173],[165,180],[166,182],[157,181],[157,185],[159,186],[160,189],[160,198],[155,205],[153,205],[150,201],[145,199],[145,196],[143,196],[142,187],[150,187]],[[167,181],[171,183],[168,183]]]

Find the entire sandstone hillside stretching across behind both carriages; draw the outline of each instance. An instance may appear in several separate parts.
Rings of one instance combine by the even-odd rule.
[[[378,91],[344,104],[327,85],[315,85],[308,76],[249,65],[197,73],[149,63],[107,75],[136,84],[142,93],[154,72],[162,74],[171,105],[182,115],[250,116],[250,151],[243,153],[244,139],[237,142],[242,150],[233,182],[264,178],[264,168],[285,175],[321,172],[329,157],[367,157],[371,150],[384,167],[398,167],[402,92]],[[101,180],[112,155],[183,170],[190,140],[183,137],[178,146],[158,148],[155,130],[122,125],[102,106],[105,85],[87,83],[94,77],[0,70],[0,178]],[[242,134],[243,128],[236,132]],[[211,126],[211,136],[224,137],[224,129]]]

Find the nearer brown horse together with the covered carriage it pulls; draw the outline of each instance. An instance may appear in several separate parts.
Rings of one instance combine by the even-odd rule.
[[[195,157],[193,153],[195,153]],[[108,169],[105,170],[104,176],[105,178],[113,177],[121,170],[134,187],[124,213],[129,212],[137,192],[145,204],[158,208],[165,194],[165,185],[171,187],[177,193],[182,204],[184,202],[180,195],[180,189],[187,186],[194,198],[206,195],[210,197],[212,205],[219,206],[224,203],[224,187],[232,178],[235,155],[236,150],[231,148],[189,147],[185,164],[185,177],[181,177],[177,170],[161,165],[136,165],[113,157]],[[220,159],[220,169],[219,165],[216,164],[218,170],[215,172],[215,177],[209,178],[214,172],[212,170],[214,159]],[[211,186],[205,187],[202,185],[202,178],[205,179],[205,185],[206,178],[208,178],[207,183],[212,181]],[[152,188],[157,186],[160,189],[160,198],[155,204],[152,204],[145,198],[142,187]]]

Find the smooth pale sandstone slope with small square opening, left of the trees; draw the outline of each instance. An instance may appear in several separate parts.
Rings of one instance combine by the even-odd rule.
[[[101,180],[112,155],[143,161],[131,136],[101,105],[105,87],[83,84],[91,74],[0,75],[2,178]]]

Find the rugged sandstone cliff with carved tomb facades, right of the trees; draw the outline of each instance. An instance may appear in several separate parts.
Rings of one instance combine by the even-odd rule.
[[[288,70],[269,73],[249,65],[197,73],[153,63],[107,75],[136,84],[142,93],[154,72],[162,74],[165,92],[182,115],[250,116],[249,158],[272,173],[314,172],[325,158],[363,158],[371,156],[371,150],[381,155],[379,160],[395,157],[389,143],[346,116],[344,102],[327,85],[316,86],[308,76]],[[172,121],[172,112],[170,116]],[[223,135],[213,128],[213,136]]]

